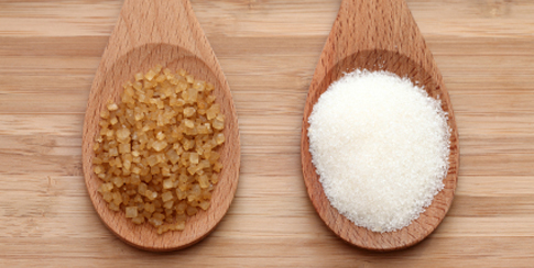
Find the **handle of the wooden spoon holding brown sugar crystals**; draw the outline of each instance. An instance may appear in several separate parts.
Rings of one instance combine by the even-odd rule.
[[[170,44],[204,62],[215,59],[189,0],[126,0],[102,64],[109,68],[126,52],[148,44]]]

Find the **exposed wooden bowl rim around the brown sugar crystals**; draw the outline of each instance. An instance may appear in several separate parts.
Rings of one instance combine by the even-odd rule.
[[[190,63],[197,63],[195,64],[196,67],[201,66],[203,68],[199,68],[196,71],[203,72],[204,76],[209,77],[209,79],[206,80],[212,80],[211,82],[216,85],[214,93],[217,96],[216,102],[220,103],[221,111],[226,115],[226,125],[224,133],[227,137],[227,141],[222,147],[218,148],[219,153],[221,153],[221,161],[225,167],[219,175],[219,182],[215,186],[214,196],[210,200],[211,205],[209,206],[209,209],[207,211],[199,210],[196,215],[188,216],[186,221],[186,228],[184,231],[170,231],[162,235],[157,235],[156,228],[154,228],[152,225],[149,225],[149,223],[145,222],[141,225],[134,225],[131,220],[124,216],[123,211],[115,212],[107,206],[108,203],[105,202],[102,196],[97,192],[98,186],[101,185],[102,181],[92,172],[92,157],[95,156],[92,146],[95,144],[95,135],[100,129],[100,126],[98,125],[98,122],[100,121],[99,112],[101,111],[101,109],[106,109],[105,103],[107,99],[105,94],[111,96],[110,99],[115,99],[116,102],[119,102],[120,94],[123,92],[123,89],[122,87],[118,87],[117,85],[121,85],[121,82],[126,80],[133,79],[133,74],[135,74],[135,71],[146,71],[149,68],[153,67],[149,63],[151,60],[156,62],[160,54],[163,54],[163,52],[160,52],[160,54],[157,54],[157,51],[164,51],[164,48],[176,51],[176,55],[174,57],[166,58],[166,66],[172,64],[179,65],[182,64],[179,62],[183,60],[183,58],[187,58],[187,60],[189,60]],[[139,60],[138,63],[143,68],[129,70],[132,74],[123,75],[128,77],[128,79],[115,82],[115,87],[110,86],[112,83],[106,83],[106,81],[110,79],[110,76],[113,77],[113,75],[109,75],[110,72],[117,70],[120,70],[119,72],[121,72],[123,69],[127,68],[121,66],[120,63],[128,60],[132,55],[135,55],[135,53],[141,54],[143,51],[151,52],[145,59]],[[187,63],[189,62],[185,63],[184,60],[183,63],[184,65],[187,65]],[[176,70],[178,68],[176,68]],[[237,187],[239,183],[239,168],[241,157],[240,133],[231,91],[224,72],[220,70],[220,72],[217,74],[217,69],[209,68],[208,64],[198,55],[195,55],[188,49],[179,47],[178,45],[167,43],[150,43],[135,46],[126,54],[123,54],[121,57],[119,57],[117,60],[115,60],[115,63],[111,65],[111,68],[107,70],[107,74],[98,75],[99,71],[100,69],[97,71],[97,77],[95,78],[91,86],[88,107],[84,120],[83,133],[84,180],[96,213],[103,222],[103,224],[108,227],[108,230],[110,230],[111,233],[113,233],[117,237],[119,237],[128,245],[134,246],[143,250],[171,252],[182,249],[198,243],[199,241],[208,236],[227,214],[236,196]],[[190,70],[188,70],[188,72]],[[128,72],[128,70],[124,72]],[[195,74],[195,71],[190,71],[190,74],[195,75],[195,77],[198,77],[198,74]],[[99,80],[97,81],[97,79]],[[193,224],[200,225],[190,226]],[[141,233],[133,234],[134,232]],[[149,241],[146,238],[154,237],[154,234],[156,237],[155,241]]]

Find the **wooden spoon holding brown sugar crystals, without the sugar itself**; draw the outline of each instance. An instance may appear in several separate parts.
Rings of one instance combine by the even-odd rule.
[[[118,102],[121,85],[156,64],[172,70],[184,68],[196,78],[212,82],[216,102],[227,119],[226,143],[219,150],[225,167],[215,187],[211,206],[190,217],[184,231],[163,235],[148,223],[134,225],[123,212],[107,208],[97,192],[101,181],[92,172],[91,149],[99,131],[99,113],[107,100]],[[83,165],[89,197],[102,222],[119,238],[142,249],[164,252],[190,246],[207,236],[228,211],[238,186],[240,165],[236,109],[225,75],[188,0],[124,1],[92,82],[84,124]]]

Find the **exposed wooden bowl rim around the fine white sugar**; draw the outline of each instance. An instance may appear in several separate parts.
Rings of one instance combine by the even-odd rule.
[[[408,226],[405,226],[401,230],[394,232],[386,232],[386,233],[378,233],[372,232],[368,228],[361,227],[349,221],[345,215],[338,212],[337,209],[331,206],[329,200],[326,198],[326,194],[323,189],[323,185],[319,181],[319,175],[317,175],[315,165],[312,163],[312,154],[309,152],[309,138],[308,138],[308,127],[309,123],[307,122],[314,105],[317,103],[320,94],[323,94],[328,87],[336,80],[340,79],[345,74],[352,71],[353,69],[366,69],[361,68],[361,66],[352,66],[350,69],[345,71],[345,74],[338,68],[338,65],[348,60],[351,57],[358,57],[359,54],[369,53],[370,55],[381,55],[380,53],[390,53],[392,55],[396,55],[401,58],[406,58],[408,62],[407,65],[417,65],[414,60],[412,60],[408,56],[403,55],[396,51],[388,51],[388,49],[364,49],[358,51],[355,54],[348,55],[347,57],[338,60],[338,63],[334,64],[328,71],[325,72],[323,77],[316,78],[314,76],[314,80],[308,89],[308,94],[305,102],[305,110],[303,114],[303,123],[302,123],[302,134],[301,134],[301,161],[302,161],[302,171],[303,171],[303,179],[306,186],[306,191],[308,193],[308,198],[312,201],[312,204],[322,219],[322,221],[333,231],[338,237],[344,239],[345,242],[355,245],[360,248],[364,248],[368,250],[375,250],[375,252],[389,252],[389,250],[397,250],[407,248],[413,246],[423,239],[425,239],[432,232],[434,232],[439,224],[445,219],[450,205],[453,204],[453,199],[455,196],[457,180],[458,180],[458,170],[459,170],[459,139],[458,139],[458,130],[456,125],[456,118],[454,115],[453,105],[450,102],[450,98],[448,96],[448,91],[445,88],[445,85],[442,81],[433,81],[436,82],[435,90],[440,92],[440,101],[442,107],[445,107],[445,112],[448,112],[447,123],[450,127],[450,153],[448,156],[449,168],[447,170],[447,175],[443,179],[444,181],[444,189],[439,191],[434,198],[428,208],[425,208],[425,211],[419,214],[418,219],[412,221]],[[374,54],[373,54],[374,53]],[[382,57],[375,57],[375,62],[378,59],[382,59]],[[373,59],[371,59],[372,62]],[[421,65],[421,70],[424,72],[423,76],[428,76],[428,71],[424,69]],[[374,70],[386,70],[391,71],[383,66],[374,66]],[[331,72],[336,72],[331,75]],[[391,71],[394,72],[394,71]],[[421,74],[419,74],[421,75]],[[331,76],[337,76],[331,78]],[[402,77],[402,76],[401,76]],[[415,82],[412,77],[410,77],[412,82]],[[316,80],[317,79],[317,80]],[[325,83],[326,82],[326,83]],[[325,87],[326,85],[326,87]],[[425,90],[428,92],[433,89]],[[315,96],[316,91],[318,91],[317,96]],[[432,224],[427,224],[427,221],[432,214],[436,212],[438,216],[431,221]],[[432,220],[432,219],[431,219]],[[437,220],[437,221],[436,221]],[[411,234],[410,231],[414,231],[414,226],[421,226],[415,231],[423,231],[416,232],[415,235]]]

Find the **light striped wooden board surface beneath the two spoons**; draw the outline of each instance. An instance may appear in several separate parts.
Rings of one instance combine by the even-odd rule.
[[[121,4],[0,1],[0,266],[532,266],[534,2],[407,1],[455,108],[461,167],[444,222],[393,253],[336,237],[302,178],[304,103],[339,0],[192,1],[239,116],[236,198],[184,250],[111,234],[85,188],[81,130]]]

